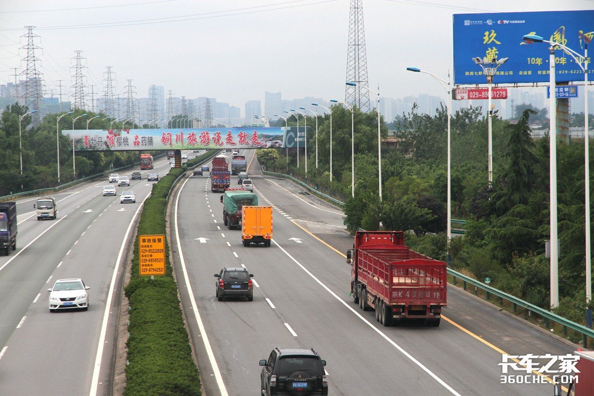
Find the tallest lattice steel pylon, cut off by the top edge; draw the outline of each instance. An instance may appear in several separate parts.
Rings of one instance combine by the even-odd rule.
[[[354,81],[357,85],[364,87],[368,86],[363,0],[350,0],[346,81]],[[356,104],[364,112],[371,110],[369,91],[359,86],[346,85],[345,103]]]

